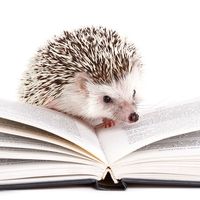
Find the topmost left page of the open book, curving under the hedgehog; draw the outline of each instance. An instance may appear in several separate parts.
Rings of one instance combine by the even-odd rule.
[[[106,162],[94,130],[81,121],[47,108],[0,101],[0,118],[17,121],[58,135]]]

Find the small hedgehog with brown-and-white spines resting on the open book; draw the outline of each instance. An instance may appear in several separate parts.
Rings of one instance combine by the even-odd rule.
[[[21,79],[19,98],[104,127],[133,123],[142,63],[133,43],[116,31],[63,31],[41,47]]]

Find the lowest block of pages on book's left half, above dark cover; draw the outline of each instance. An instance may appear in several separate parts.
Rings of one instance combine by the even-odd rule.
[[[37,182],[38,178],[48,178],[49,180],[71,180],[93,177],[100,179],[103,170],[92,165],[70,163],[70,162],[54,162],[41,160],[10,160],[0,159],[0,185],[17,182],[26,183],[26,179]],[[34,179],[36,179],[34,181]],[[48,180],[46,179],[46,180]]]

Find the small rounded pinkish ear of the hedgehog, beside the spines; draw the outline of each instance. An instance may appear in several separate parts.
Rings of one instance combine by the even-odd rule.
[[[90,81],[89,76],[85,72],[78,72],[75,75],[75,83],[78,88],[87,93],[87,82]]]

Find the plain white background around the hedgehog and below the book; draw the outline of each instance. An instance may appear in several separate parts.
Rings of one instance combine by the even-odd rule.
[[[22,72],[39,46],[64,29],[103,25],[132,40],[143,58],[145,98],[162,105],[200,96],[198,0],[0,1],[0,98],[17,100]],[[154,198],[186,199],[198,189],[91,188],[0,192],[1,199]],[[72,196],[73,195],[73,196]]]

